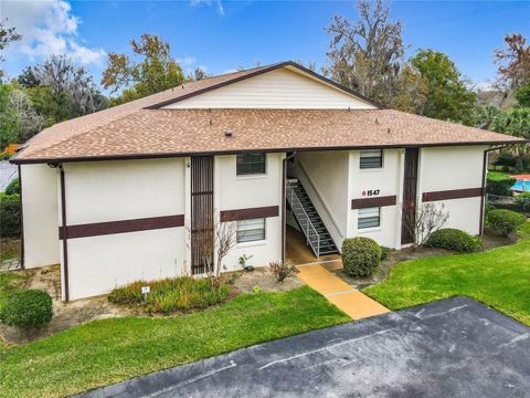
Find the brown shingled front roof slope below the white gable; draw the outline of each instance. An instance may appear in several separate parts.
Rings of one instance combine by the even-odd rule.
[[[516,142],[523,140],[392,109],[137,109],[36,149],[32,140],[15,161]]]

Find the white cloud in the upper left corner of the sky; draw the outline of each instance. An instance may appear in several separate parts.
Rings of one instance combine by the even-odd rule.
[[[52,54],[66,54],[84,65],[100,65],[106,56],[103,49],[89,49],[82,44],[77,28],[78,17],[65,0],[2,0],[2,19],[14,27],[22,40],[10,48],[32,60]]]

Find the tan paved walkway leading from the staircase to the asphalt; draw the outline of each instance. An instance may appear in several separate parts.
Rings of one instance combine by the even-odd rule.
[[[353,320],[388,313],[390,310],[375,300],[357,291],[348,283],[326,270],[321,264],[298,265],[298,277],[307,285],[324,294],[342,312]]]

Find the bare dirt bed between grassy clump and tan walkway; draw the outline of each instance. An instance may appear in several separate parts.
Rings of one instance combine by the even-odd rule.
[[[278,283],[268,266],[259,266],[252,272],[225,273],[222,275],[222,280],[232,284],[239,293],[252,293],[254,286],[259,286],[259,292],[287,292],[304,285],[296,275],[290,275],[283,283]]]

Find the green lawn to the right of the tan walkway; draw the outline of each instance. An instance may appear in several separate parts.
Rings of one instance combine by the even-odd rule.
[[[513,245],[406,261],[363,292],[390,310],[465,295],[530,325],[530,222]]]

